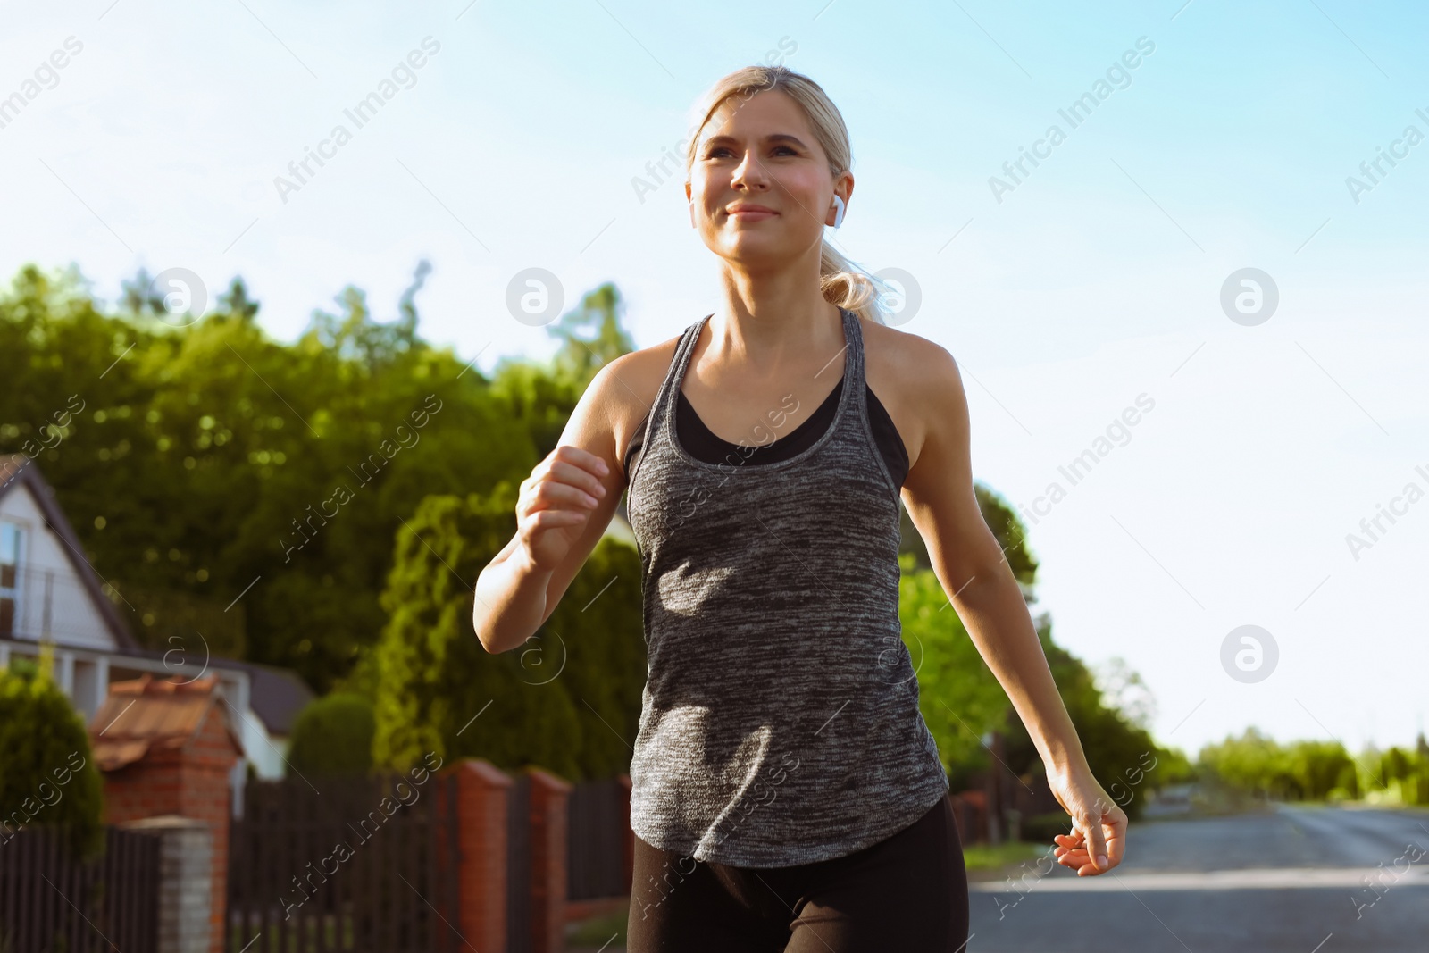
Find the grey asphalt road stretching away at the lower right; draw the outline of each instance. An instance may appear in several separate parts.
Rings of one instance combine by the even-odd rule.
[[[1115,870],[1047,870],[972,884],[967,953],[1429,953],[1429,810],[1133,823]]]

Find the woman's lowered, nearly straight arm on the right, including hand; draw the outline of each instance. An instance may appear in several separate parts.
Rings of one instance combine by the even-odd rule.
[[[1057,862],[1079,876],[1105,873],[1126,850],[1126,813],[1092,776],[1022,590],[977,507],[957,363],[922,339],[916,350],[917,367],[905,380],[915,390],[909,406],[919,407],[923,441],[903,483],[903,503],[953,609],[1027,727],[1052,793],[1072,817],[1073,832],[1056,837]]]

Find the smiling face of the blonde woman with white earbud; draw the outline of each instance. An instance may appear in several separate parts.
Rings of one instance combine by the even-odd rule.
[[[817,249],[833,224],[836,180],[803,109],[780,90],[732,96],[700,130],[684,194],[704,244],[747,266],[779,264]]]

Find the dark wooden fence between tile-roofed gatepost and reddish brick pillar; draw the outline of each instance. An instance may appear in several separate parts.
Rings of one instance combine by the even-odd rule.
[[[456,779],[249,782],[229,839],[230,953],[463,949]]]

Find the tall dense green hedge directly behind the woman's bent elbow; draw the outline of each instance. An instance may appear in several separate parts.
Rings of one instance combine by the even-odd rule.
[[[539,764],[569,780],[626,772],[644,686],[640,560],[602,540],[520,649],[487,653],[472,630],[476,576],[516,533],[516,489],[430,496],[397,534],[377,646],[376,763],[426,753]]]

